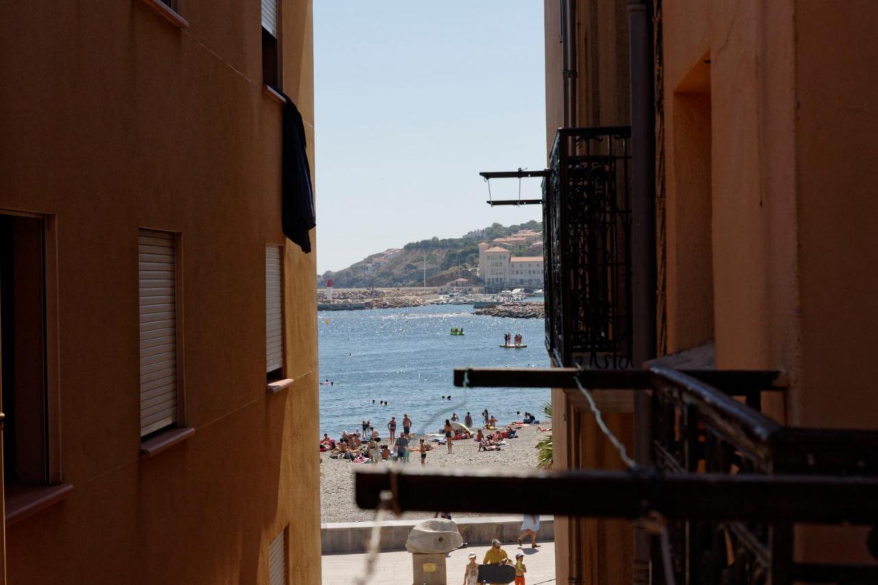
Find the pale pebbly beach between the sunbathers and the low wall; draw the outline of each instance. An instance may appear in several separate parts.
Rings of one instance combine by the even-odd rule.
[[[541,425],[545,426],[545,425]],[[551,427],[551,425],[548,425]],[[427,467],[496,467],[500,469],[536,468],[536,442],[547,433],[538,432],[537,425],[522,427],[518,437],[507,440],[501,451],[480,451],[479,444],[472,439],[457,441],[452,445],[454,452],[448,453],[443,444],[434,444],[427,453]],[[475,429],[473,430],[475,432]],[[413,444],[417,444],[415,439]],[[375,513],[363,510],[354,503],[354,470],[370,463],[351,463],[348,459],[330,459],[327,453],[320,453],[320,519],[321,522],[363,522],[374,519]],[[389,465],[386,462],[378,466]],[[409,466],[421,466],[420,454],[413,452]],[[464,516],[479,516],[467,514]],[[407,512],[403,518],[431,518],[429,512]]]

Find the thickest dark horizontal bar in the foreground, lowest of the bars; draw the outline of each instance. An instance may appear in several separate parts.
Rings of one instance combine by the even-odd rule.
[[[878,522],[878,479],[808,475],[666,475],[615,471],[358,469],[356,504],[382,491],[399,511],[524,513],[815,524]],[[424,497],[429,494],[429,497]]]

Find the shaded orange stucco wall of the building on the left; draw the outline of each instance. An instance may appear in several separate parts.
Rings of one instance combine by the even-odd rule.
[[[61,474],[74,486],[9,527],[13,583],[264,583],[287,524],[290,582],[320,582],[316,270],[289,242],[296,382],[265,392],[264,248],[284,238],[260,5],[179,4],[187,28],[140,0],[10,4],[0,24],[0,210],[53,218]],[[313,157],[311,2],[283,4],[284,90]],[[181,234],[196,430],[153,459],[138,454],[139,227]]]

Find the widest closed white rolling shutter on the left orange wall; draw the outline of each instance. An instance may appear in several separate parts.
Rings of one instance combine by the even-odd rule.
[[[141,229],[140,437],[176,423],[174,235]]]

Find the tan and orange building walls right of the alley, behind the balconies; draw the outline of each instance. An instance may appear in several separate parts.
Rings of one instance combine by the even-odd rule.
[[[546,0],[549,149],[561,126],[631,126],[629,4],[653,35],[659,360],[782,372],[785,391],[761,402],[774,422],[878,429],[867,392],[878,84],[859,65],[878,49],[878,4]],[[565,420],[555,468],[622,469],[594,417],[552,396]],[[635,452],[633,413],[604,418]],[[798,526],[793,558],[874,567],[866,532]],[[634,542],[626,521],[556,518],[558,582],[649,582]]]

